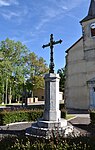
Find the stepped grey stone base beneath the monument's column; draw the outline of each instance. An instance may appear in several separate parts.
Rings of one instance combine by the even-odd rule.
[[[43,121],[40,120],[32,124],[31,128],[26,129],[26,135],[51,138],[52,136],[66,137],[73,132],[73,126],[67,125],[67,120],[61,119],[57,121]]]

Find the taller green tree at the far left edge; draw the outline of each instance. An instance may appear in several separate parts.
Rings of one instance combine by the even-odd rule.
[[[2,86],[2,101],[5,95],[7,103],[8,95],[17,97],[21,95],[19,90],[25,80],[26,57],[28,49],[21,42],[9,40],[0,42],[0,86]],[[15,89],[15,92],[14,92]]]

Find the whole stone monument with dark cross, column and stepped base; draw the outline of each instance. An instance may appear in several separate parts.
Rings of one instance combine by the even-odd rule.
[[[67,128],[67,120],[61,119],[59,110],[59,75],[54,73],[53,62],[53,45],[60,43],[62,40],[53,41],[53,34],[50,35],[50,43],[43,45],[43,48],[50,46],[50,65],[49,73],[45,75],[45,106],[43,118],[38,119],[32,124],[31,134],[35,136],[43,136],[49,138],[52,131],[56,135],[57,132],[65,132]],[[72,129],[71,129],[72,130]]]

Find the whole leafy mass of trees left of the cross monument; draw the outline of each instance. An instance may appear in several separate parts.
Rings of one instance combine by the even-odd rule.
[[[0,100],[8,103],[20,99],[24,89],[44,87],[43,75],[48,71],[46,61],[20,41],[0,42]]]

